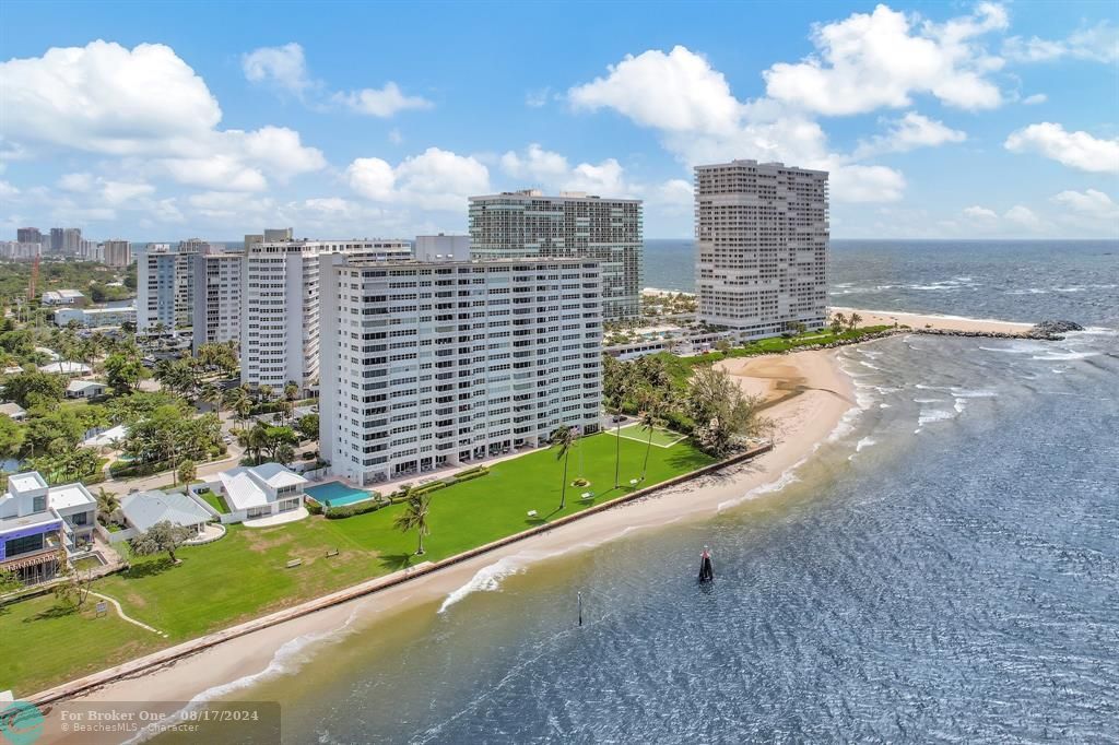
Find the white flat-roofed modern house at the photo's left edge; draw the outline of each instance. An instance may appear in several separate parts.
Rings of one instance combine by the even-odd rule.
[[[8,477],[0,497],[0,572],[34,585],[93,544],[97,500],[81,483],[48,487],[37,471]]]

